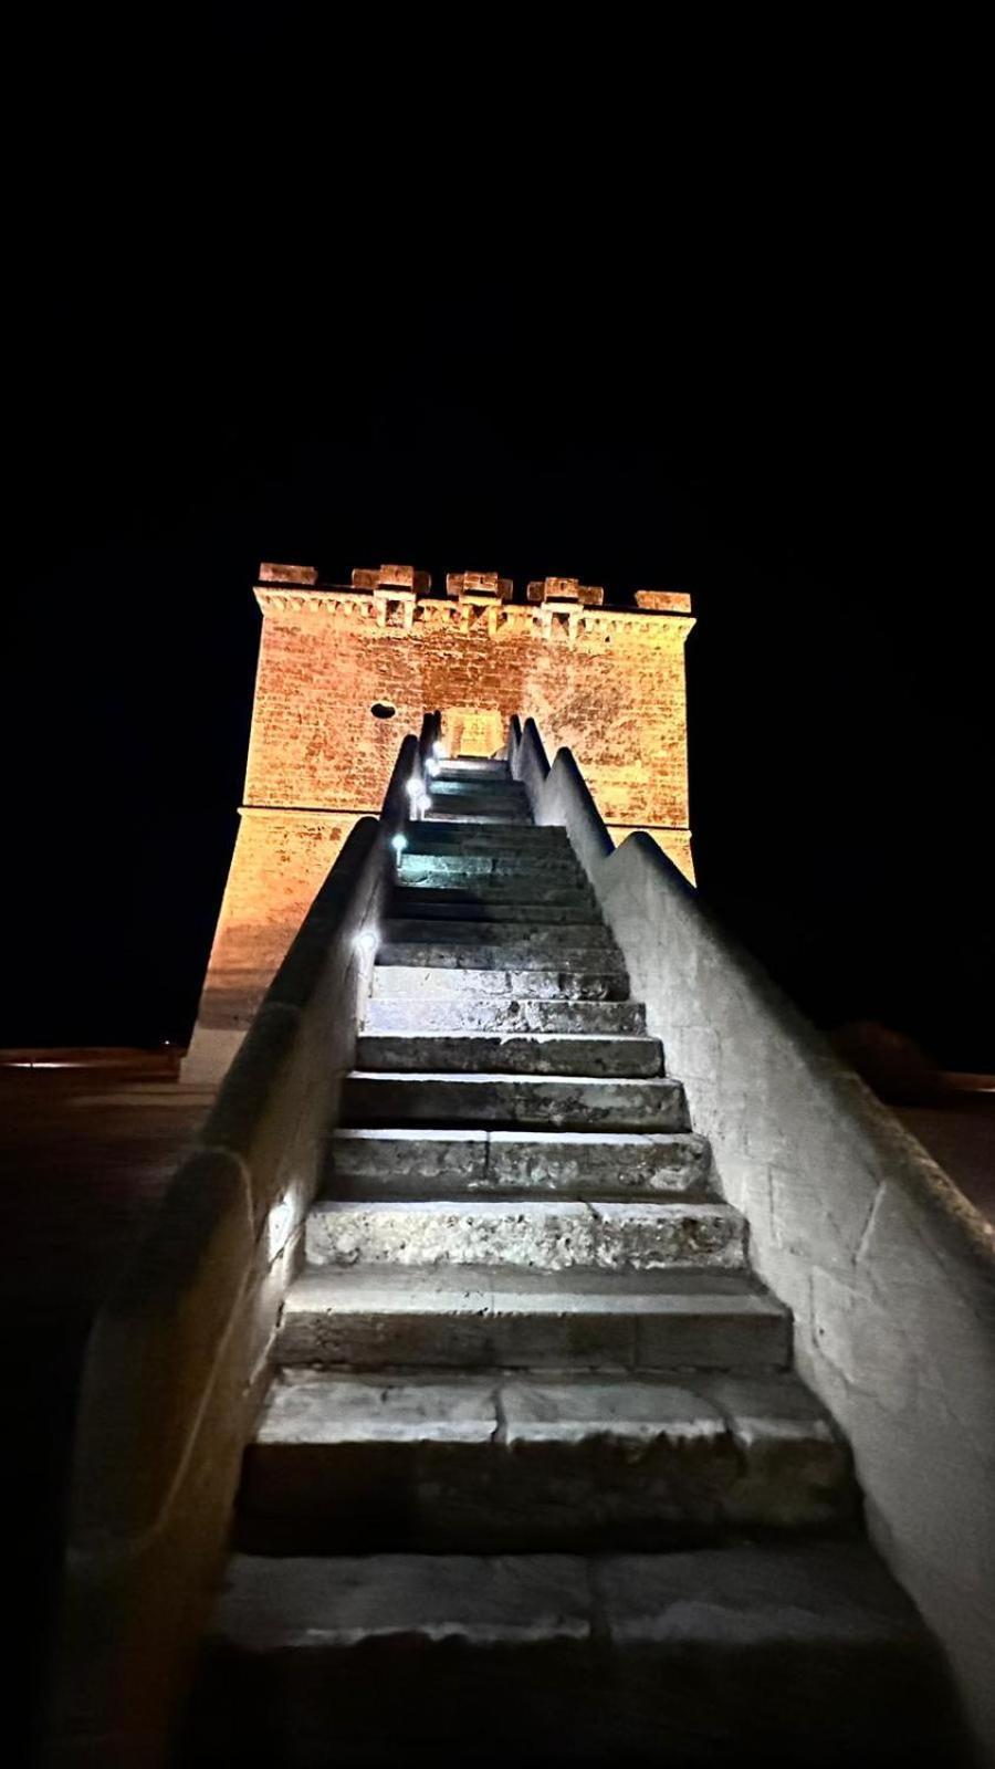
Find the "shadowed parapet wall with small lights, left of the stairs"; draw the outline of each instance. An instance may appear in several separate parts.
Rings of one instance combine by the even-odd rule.
[[[319,892],[85,1360],[48,1762],[156,1769],[351,1068],[386,830]],[[370,939],[361,939],[365,930]]]

